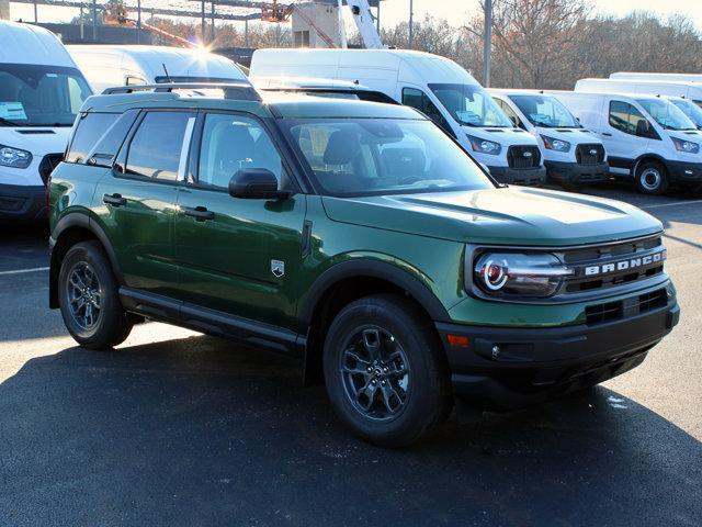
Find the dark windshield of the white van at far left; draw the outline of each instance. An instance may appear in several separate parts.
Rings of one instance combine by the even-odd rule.
[[[0,125],[72,126],[91,94],[76,68],[0,64]]]

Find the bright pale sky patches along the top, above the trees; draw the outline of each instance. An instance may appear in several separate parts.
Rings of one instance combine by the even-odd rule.
[[[284,0],[283,0],[284,1]],[[410,0],[384,0],[381,12],[383,24],[394,25],[405,21],[409,15]],[[496,0],[499,1],[499,0]],[[702,0],[590,0],[596,13],[622,16],[634,10],[645,10],[667,16],[672,13],[684,13],[691,16],[698,29],[702,31]],[[416,20],[426,14],[443,18],[461,25],[468,18],[478,12],[478,0],[414,0]],[[34,19],[33,7],[30,4],[11,3],[10,15],[13,20],[22,18],[26,21]],[[71,9],[39,5],[39,22],[68,20],[75,16]]]

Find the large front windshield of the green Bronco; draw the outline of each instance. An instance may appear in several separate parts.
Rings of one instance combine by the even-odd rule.
[[[471,157],[430,121],[286,120],[290,137],[329,195],[494,188]]]

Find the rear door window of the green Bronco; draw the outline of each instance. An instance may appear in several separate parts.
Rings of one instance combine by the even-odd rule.
[[[192,133],[195,115],[186,112],[149,112],[139,124],[127,152],[126,173],[176,181]],[[184,162],[184,160],[183,160]]]

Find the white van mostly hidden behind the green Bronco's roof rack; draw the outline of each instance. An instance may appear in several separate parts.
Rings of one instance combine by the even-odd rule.
[[[233,60],[200,49],[138,45],[66,47],[95,93],[116,86],[247,80]]]

